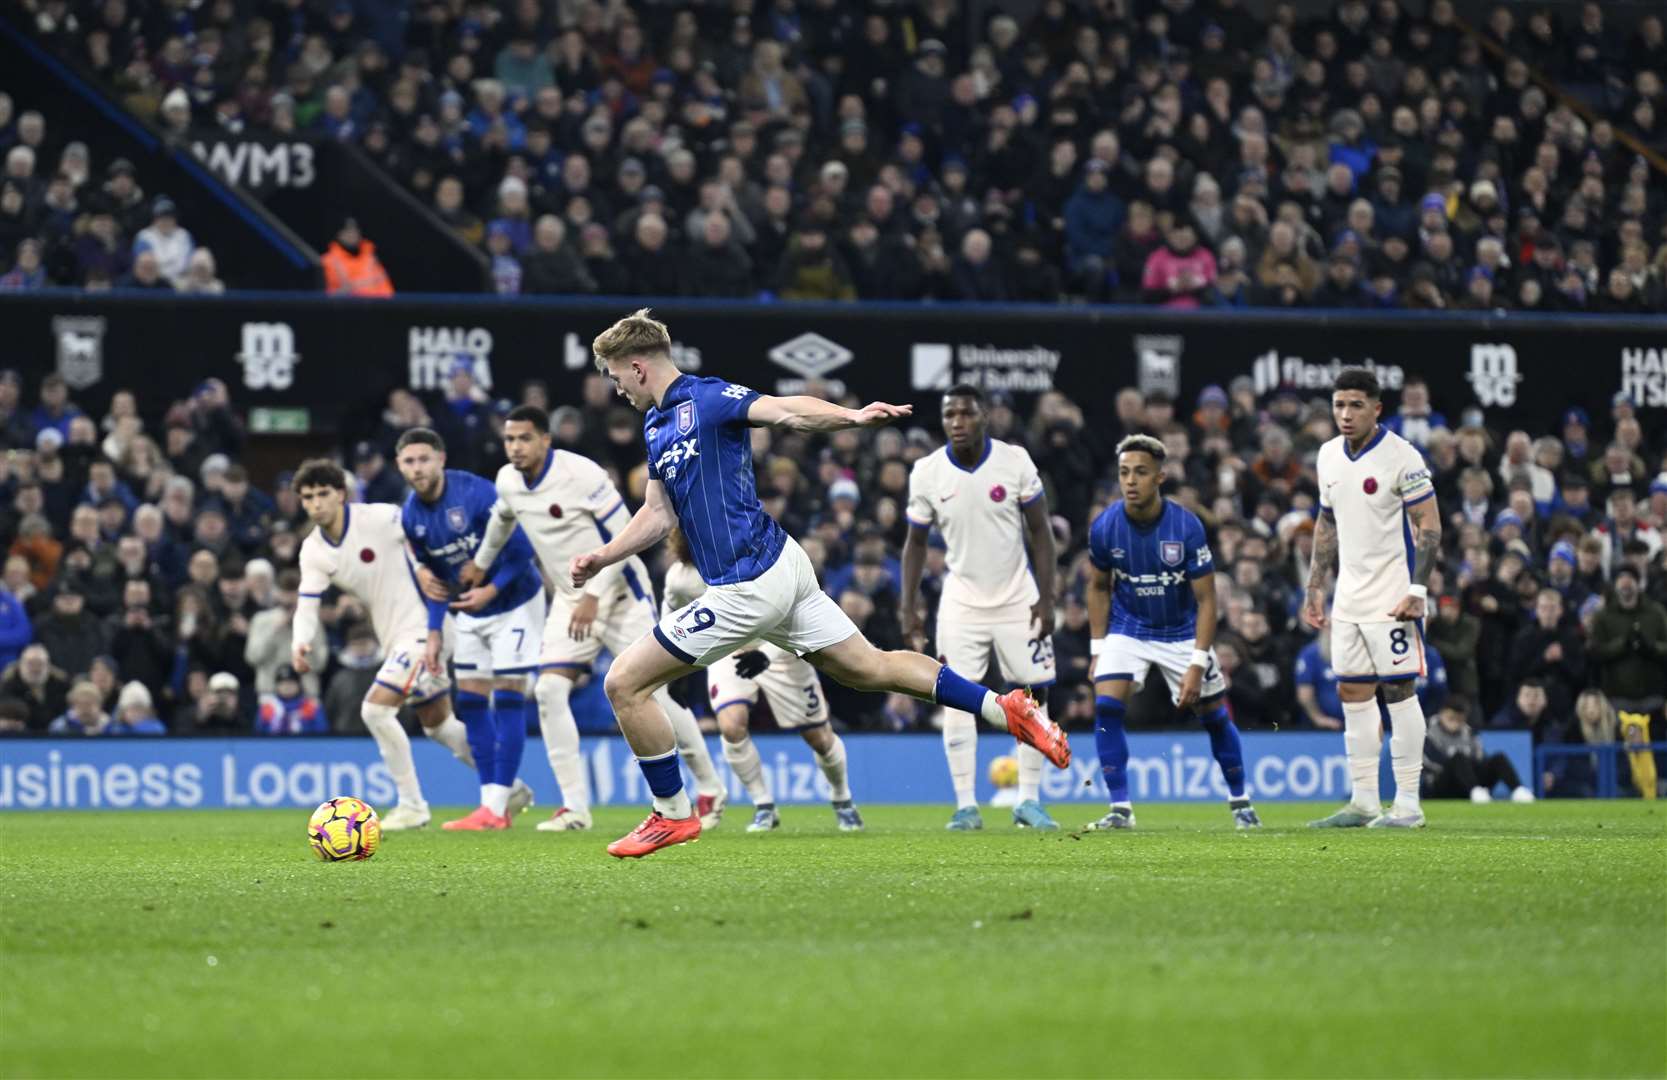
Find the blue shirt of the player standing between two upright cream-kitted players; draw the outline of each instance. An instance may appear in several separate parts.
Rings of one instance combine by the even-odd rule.
[[[1089,558],[1112,575],[1112,633],[1142,642],[1197,637],[1192,582],[1215,565],[1195,513],[1165,498],[1155,522],[1137,525],[1119,498],[1089,528]]]

